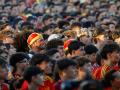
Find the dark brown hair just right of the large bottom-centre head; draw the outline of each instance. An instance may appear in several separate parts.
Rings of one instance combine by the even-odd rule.
[[[83,67],[85,64],[89,63],[90,60],[87,59],[86,57],[78,57],[77,59],[75,59],[78,67]]]

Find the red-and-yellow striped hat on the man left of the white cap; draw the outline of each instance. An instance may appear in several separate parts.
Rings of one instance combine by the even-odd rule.
[[[30,45],[32,45],[38,39],[43,39],[42,34],[32,33],[32,34],[29,35],[29,37],[27,39],[27,43],[30,46]]]

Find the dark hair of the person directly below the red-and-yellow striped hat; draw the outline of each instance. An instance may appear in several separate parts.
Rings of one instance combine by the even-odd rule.
[[[35,54],[31,61],[30,64],[33,66],[36,66],[37,64],[41,64],[42,62],[49,62],[50,58],[46,54]]]

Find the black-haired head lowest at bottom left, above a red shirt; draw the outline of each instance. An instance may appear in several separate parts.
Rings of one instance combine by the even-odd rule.
[[[37,86],[42,85],[44,81],[43,71],[39,67],[29,67],[25,70],[24,79],[29,84],[35,84]]]

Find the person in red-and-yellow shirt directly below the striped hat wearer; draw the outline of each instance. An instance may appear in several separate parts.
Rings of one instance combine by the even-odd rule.
[[[46,54],[35,54],[32,57],[30,64],[31,66],[39,67],[45,73],[50,61],[51,59]],[[53,79],[45,73],[44,85],[40,85],[39,89],[46,90],[47,88],[48,90],[54,90],[53,84]]]

